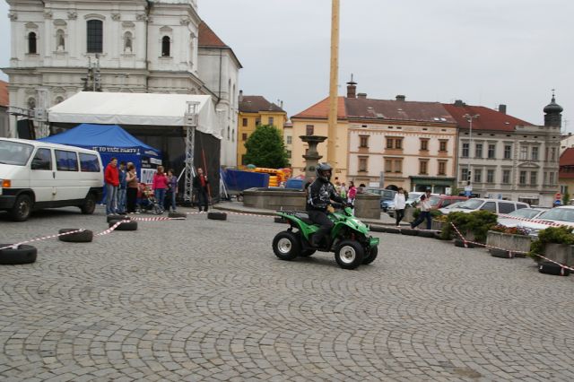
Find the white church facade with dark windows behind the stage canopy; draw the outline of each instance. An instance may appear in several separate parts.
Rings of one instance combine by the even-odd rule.
[[[12,106],[48,109],[83,90],[208,94],[225,132],[222,165],[235,164],[236,136],[226,130],[236,126],[241,65],[224,44],[217,59],[202,47],[196,0],[7,3]]]

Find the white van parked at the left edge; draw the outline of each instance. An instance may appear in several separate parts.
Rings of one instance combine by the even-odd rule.
[[[100,153],[0,138],[0,210],[25,221],[32,210],[75,205],[93,213],[103,194]]]

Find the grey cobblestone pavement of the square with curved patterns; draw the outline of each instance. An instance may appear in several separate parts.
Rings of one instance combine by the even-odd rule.
[[[107,227],[0,213],[0,242]],[[284,262],[284,227],[192,214],[35,243],[37,263],[0,265],[0,380],[574,380],[573,277],[385,233],[354,271]]]

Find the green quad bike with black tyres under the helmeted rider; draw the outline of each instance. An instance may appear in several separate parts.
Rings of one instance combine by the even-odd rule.
[[[309,220],[309,214],[302,211],[277,211],[276,214],[290,224],[289,229],[275,235],[273,250],[282,260],[293,260],[297,256],[307,257],[315,253],[335,252],[337,264],[344,269],[355,269],[361,264],[372,263],[378,255],[378,238],[369,235],[369,227],[352,215],[347,205],[333,204],[337,209],[328,217],[335,223],[329,243],[325,239],[319,247],[310,244],[311,235],[319,226]]]

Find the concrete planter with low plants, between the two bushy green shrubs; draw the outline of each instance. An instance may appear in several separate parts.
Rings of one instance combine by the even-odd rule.
[[[512,258],[525,257],[530,251],[531,239],[520,227],[495,225],[486,234],[486,245],[491,256]]]

